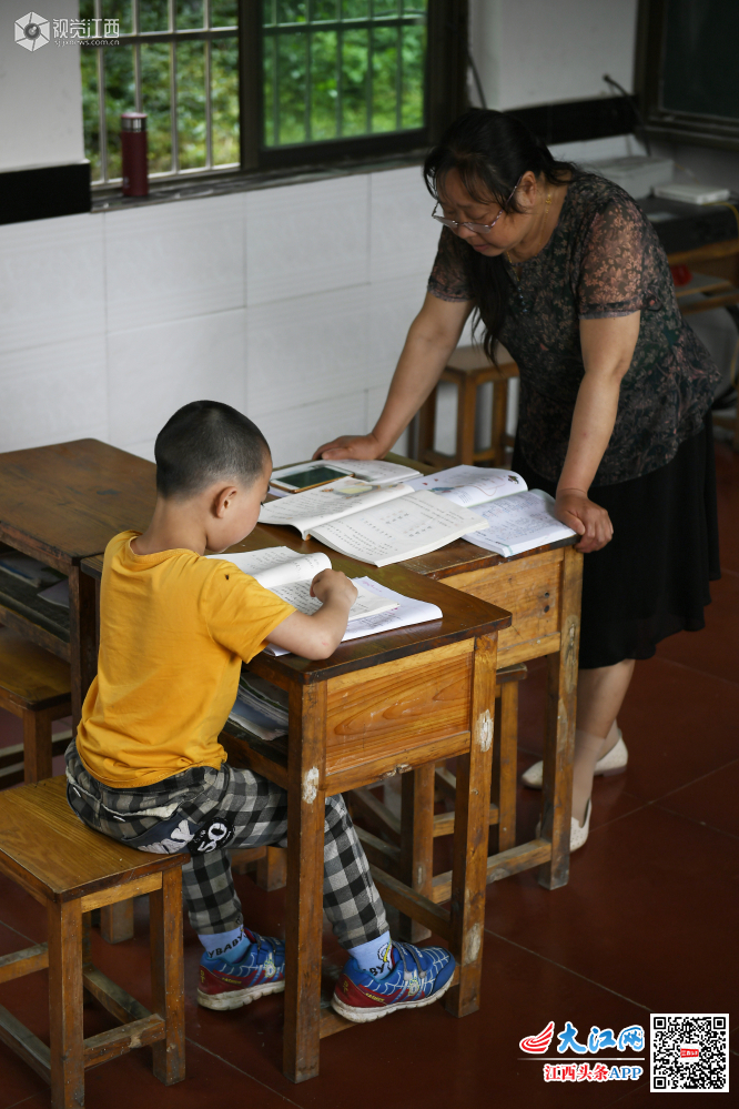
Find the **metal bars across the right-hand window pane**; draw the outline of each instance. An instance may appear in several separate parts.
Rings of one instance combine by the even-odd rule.
[[[374,47],[375,39],[374,32],[378,28],[393,28],[397,34],[397,62],[396,62],[396,73],[395,73],[395,89],[396,89],[396,132],[406,130],[403,127],[403,112],[402,112],[402,95],[403,95],[403,28],[405,27],[425,27],[427,22],[426,12],[403,12],[401,2],[398,0],[397,11],[394,16],[381,16],[375,17],[374,14],[374,0],[371,0],[370,14],[362,18],[344,18],[341,13],[337,19],[326,19],[326,20],[314,20],[313,19],[313,4],[308,8],[307,17],[304,20],[295,20],[293,22],[277,22],[277,6],[276,0],[272,0],[270,10],[270,21],[264,23],[262,27],[262,37],[264,41],[264,52],[265,56],[270,51],[272,56],[272,73],[273,73],[273,84],[272,84],[272,103],[270,104],[270,110],[272,114],[272,130],[273,130],[273,145],[281,147],[280,141],[280,50],[279,50],[279,39],[283,34],[295,34],[302,33],[305,36],[306,40],[306,97],[305,97],[305,134],[306,142],[311,142],[311,130],[312,130],[312,117],[313,117],[313,95],[312,95],[312,32],[315,30],[321,31],[335,31],[336,32],[336,137],[343,137],[343,103],[344,103],[344,88],[343,88],[343,56],[344,56],[344,31],[347,29],[352,30],[366,30],[367,31],[367,72],[365,77],[365,134],[372,134],[372,104],[373,104],[373,69],[374,69]],[[413,129],[411,129],[413,130]],[[392,133],[392,132],[386,132]],[[357,135],[358,138],[358,135]]]

